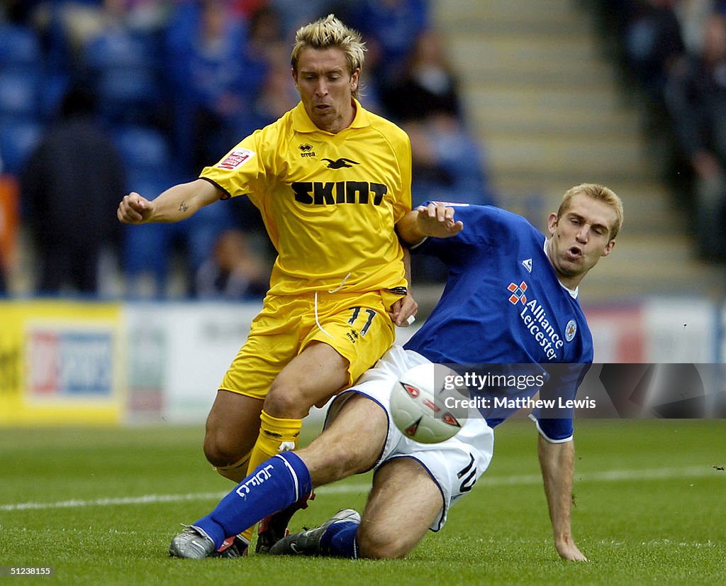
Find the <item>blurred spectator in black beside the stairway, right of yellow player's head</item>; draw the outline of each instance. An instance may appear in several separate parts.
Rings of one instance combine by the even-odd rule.
[[[388,115],[401,122],[420,120],[431,113],[458,118],[457,85],[441,36],[429,29],[417,37],[401,77],[383,89],[381,102]]]

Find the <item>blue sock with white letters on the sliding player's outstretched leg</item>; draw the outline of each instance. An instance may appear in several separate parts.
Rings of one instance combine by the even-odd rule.
[[[309,495],[312,488],[303,460],[293,452],[283,452],[261,463],[211,513],[192,526],[203,529],[220,548],[227,537],[287,508]]]

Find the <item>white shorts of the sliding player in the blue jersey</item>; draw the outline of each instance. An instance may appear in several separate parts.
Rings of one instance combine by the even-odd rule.
[[[423,465],[444,499],[441,513],[431,524],[431,531],[439,531],[446,523],[449,507],[472,489],[492,461],[494,430],[486,425],[478,410],[470,409],[459,433],[440,444],[420,444],[401,434],[391,420],[391,388],[409,368],[427,362],[431,361],[415,351],[393,346],[354,386],[336,397],[327,411],[325,426],[330,425],[353,393],[378,403],[388,418],[388,434],[374,468],[396,457],[411,457]]]

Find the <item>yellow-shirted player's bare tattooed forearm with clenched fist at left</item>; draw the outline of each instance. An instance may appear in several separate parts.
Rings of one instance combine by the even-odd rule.
[[[131,192],[118,204],[116,217],[123,224],[179,221],[189,218],[195,211],[216,200],[219,200],[219,190],[210,182],[197,179],[169,187],[151,201]]]

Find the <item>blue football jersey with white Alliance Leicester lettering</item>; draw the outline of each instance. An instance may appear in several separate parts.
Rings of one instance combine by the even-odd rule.
[[[576,292],[560,284],[544,252],[544,235],[500,208],[454,209],[462,232],[428,238],[412,251],[438,257],[449,275],[439,303],[405,347],[445,364],[537,364],[543,370],[571,364],[571,370],[554,369],[557,374],[530,394],[574,399],[587,373],[582,365],[592,363],[592,334]],[[490,426],[501,421],[487,417]],[[569,439],[572,410],[539,417],[538,424],[548,439]]]

